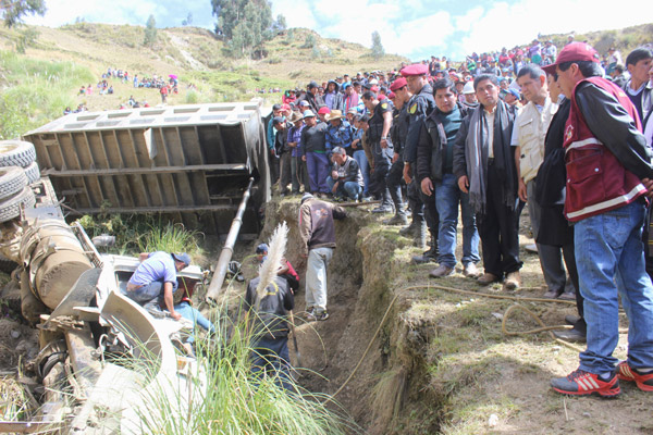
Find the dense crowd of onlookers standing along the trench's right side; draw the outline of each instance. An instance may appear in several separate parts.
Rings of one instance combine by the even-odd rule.
[[[393,214],[385,224],[404,225],[401,234],[422,247],[430,235],[412,261],[438,263],[434,278],[456,273],[460,261],[481,285],[518,288],[519,217],[528,207],[543,296],[576,300],[578,309],[568,316],[574,328],[556,335],[587,343],[579,369],[553,388],[613,397],[620,380],[653,390],[650,48],[624,61],[614,48],[601,57],[570,37],[559,52],[534,40],[475,53],[458,67],[433,57],[310,82],[285,91],[272,111],[267,134],[280,195],[304,195],[303,216],[316,209],[313,222],[324,210],[332,215],[323,206],[332,201],[378,200],[372,213]],[[324,320],[330,252],[311,260],[311,235],[324,233],[305,228],[307,311]],[[315,288],[324,294],[319,302]],[[630,326],[628,359],[617,364],[618,294]]]

